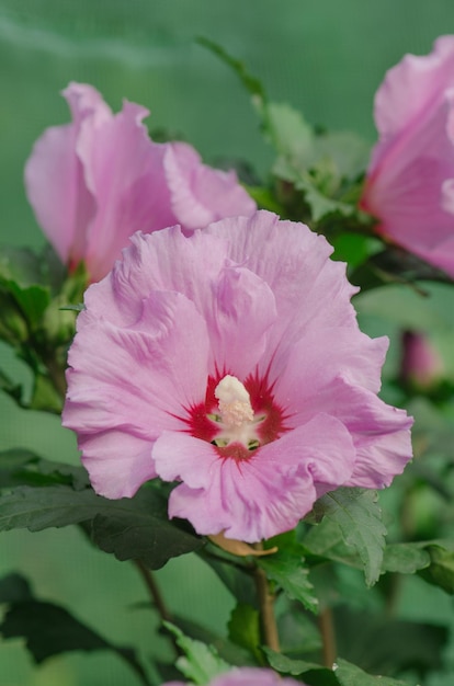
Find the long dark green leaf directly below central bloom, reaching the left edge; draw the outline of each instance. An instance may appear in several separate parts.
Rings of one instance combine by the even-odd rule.
[[[115,501],[67,485],[19,487],[0,495],[0,530],[38,531],[82,522],[91,523],[92,538],[102,550],[118,560],[140,559],[151,569],[203,545],[169,522],[166,502],[154,488]]]

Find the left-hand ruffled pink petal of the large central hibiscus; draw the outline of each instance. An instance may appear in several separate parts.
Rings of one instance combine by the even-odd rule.
[[[152,294],[143,302],[141,317],[128,329],[88,311],[79,320],[69,353],[69,390],[63,419],[65,426],[78,431],[89,472],[92,461],[97,462],[97,484],[102,484],[105,464],[102,493],[107,494],[106,489],[112,492],[113,465],[132,460],[136,468],[147,455],[144,468],[155,473],[148,465],[154,441],[164,430],[185,430],[191,405],[205,397],[208,338],[192,302],[177,293]],[[122,435],[122,442],[110,441],[110,434]],[[109,459],[106,450],[97,456],[102,445],[99,435],[111,447]],[[125,449],[128,437],[130,450]],[[134,482],[138,488],[140,481]],[[126,482],[125,491],[121,483],[117,488],[121,496],[130,495]]]

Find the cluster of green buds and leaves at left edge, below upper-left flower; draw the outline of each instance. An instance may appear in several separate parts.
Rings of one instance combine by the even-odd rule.
[[[26,398],[4,373],[0,388],[21,408],[61,412],[66,354],[75,331],[75,313],[63,307],[78,306],[87,283],[83,265],[68,275],[48,247],[41,254],[27,248],[2,249],[0,339],[30,367],[33,388]]]

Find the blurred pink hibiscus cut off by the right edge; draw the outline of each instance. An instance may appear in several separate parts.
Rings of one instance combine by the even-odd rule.
[[[362,207],[377,231],[454,277],[454,36],[406,55],[375,96]]]

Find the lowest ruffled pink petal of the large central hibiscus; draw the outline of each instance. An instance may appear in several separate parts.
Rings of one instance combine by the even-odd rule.
[[[247,542],[293,528],[313,507],[314,482],[340,485],[354,466],[349,432],[326,415],[259,448],[247,460],[222,459],[209,445],[211,453],[200,458],[195,441],[166,432],[154,447],[158,473],[166,473],[163,478],[178,473],[184,481],[171,493],[170,516],[188,518],[200,534],[224,531],[227,538]],[[172,459],[178,466],[169,472],[167,462]]]

